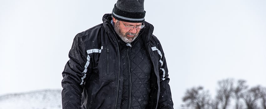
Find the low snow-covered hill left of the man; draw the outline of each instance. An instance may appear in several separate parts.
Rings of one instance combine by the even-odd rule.
[[[61,90],[43,90],[0,96],[0,109],[62,109]]]

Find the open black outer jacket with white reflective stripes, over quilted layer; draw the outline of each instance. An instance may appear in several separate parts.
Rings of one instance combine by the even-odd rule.
[[[105,14],[103,23],[77,34],[62,73],[63,109],[120,109],[123,75],[119,44]],[[147,109],[173,109],[168,69],[153,26],[145,22],[140,36],[152,61]]]

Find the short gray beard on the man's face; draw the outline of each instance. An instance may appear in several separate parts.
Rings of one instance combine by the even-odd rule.
[[[120,21],[117,21],[115,23],[115,32],[118,34],[118,36],[121,38],[121,40],[123,40],[125,43],[131,43],[133,42],[139,35],[139,33],[131,33],[131,32],[126,32],[125,35],[123,35],[123,33],[121,32],[121,29],[119,27],[119,23]],[[133,37],[128,37],[126,35],[130,35]]]

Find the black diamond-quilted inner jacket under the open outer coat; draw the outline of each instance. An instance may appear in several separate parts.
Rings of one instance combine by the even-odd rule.
[[[149,102],[150,73],[152,64],[142,37],[127,45],[120,42],[120,56],[123,64],[123,90],[121,109],[145,109]]]

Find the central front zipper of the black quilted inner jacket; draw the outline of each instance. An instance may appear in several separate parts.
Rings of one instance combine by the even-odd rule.
[[[127,104],[127,108],[130,109],[131,107],[131,103],[132,103],[132,72],[131,72],[131,63],[130,63],[130,53],[129,53],[129,47],[127,47],[127,59],[128,59],[128,104]]]

